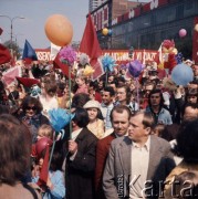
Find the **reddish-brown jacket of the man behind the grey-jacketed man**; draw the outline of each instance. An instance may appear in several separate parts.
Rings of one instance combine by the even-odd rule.
[[[103,171],[104,171],[111,143],[115,138],[116,138],[115,134],[112,133],[107,137],[100,139],[97,142],[96,167],[95,167],[95,190],[96,190],[96,197],[100,199],[104,198],[104,192],[102,189],[102,177],[103,177]]]

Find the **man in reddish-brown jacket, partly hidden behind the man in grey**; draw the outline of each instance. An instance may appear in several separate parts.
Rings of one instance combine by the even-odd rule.
[[[96,147],[96,168],[95,168],[95,190],[96,198],[103,199],[102,177],[110,150],[110,145],[116,137],[125,136],[129,125],[131,109],[125,105],[117,105],[111,112],[111,122],[114,132],[107,137],[97,142]]]

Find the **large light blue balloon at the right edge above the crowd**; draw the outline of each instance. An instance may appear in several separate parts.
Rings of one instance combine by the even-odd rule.
[[[171,80],[177,85],[187,85],[194,80],[194,72],[190,66],[181,63],[174,67],[171,72]]]

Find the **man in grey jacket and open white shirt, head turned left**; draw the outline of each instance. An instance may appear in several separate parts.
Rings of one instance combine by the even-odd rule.
[[[112,142],[103,175],[106,199],[159,197],[175,161],[169,143],[150,135],[153,125],[149,113],[137,113],[128,136]]]

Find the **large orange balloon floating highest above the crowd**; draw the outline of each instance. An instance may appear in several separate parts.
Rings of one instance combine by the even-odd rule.
[[[73,27],[64,15],[53,14],[49,17],[44,30],[48,39],[55,45],[64,46],[72,41]]]

